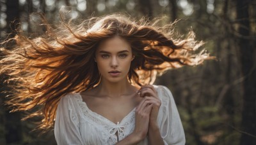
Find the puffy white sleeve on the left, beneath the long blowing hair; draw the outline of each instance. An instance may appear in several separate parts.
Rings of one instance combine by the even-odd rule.
[[[54,135],[57,144],[81,145],[82,139],[79,132],[79,119],[72,96],[66,95],[60,99],[54,123]]]

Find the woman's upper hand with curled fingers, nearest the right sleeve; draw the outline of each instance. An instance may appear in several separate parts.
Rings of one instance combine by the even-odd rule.
[[[161,100],[157,95],[156,89],[152,85],[144,85],[141,86],[140,90],[138,90],[138,93],[140,93],[140,97],[144,97],[148,103],[153,105],[150,112],[150,125],[156,125],[159,107],[161,106]]]

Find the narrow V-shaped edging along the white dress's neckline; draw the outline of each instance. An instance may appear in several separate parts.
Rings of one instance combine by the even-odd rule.
[[[87,109],[90,113],[92,113],[92,114],[94,114],[95,116],[97,116],[98,118],[100,118],[100,120],[108,121],[109,123],[111,123],[112,125],[115,125],[115,126],[116,126],[116,125],[122,125],[123,122],[125,121],[125,119],[128,118],[129,116],[131,116],[131,114],[133,114],[134,111],[135,111],[135,109],[136,109],[136,107],[134,107],[127,115],[124,116],[124,118],[122,118],[122,120],[121,120],[120,122],[114,123],[113,121],[111,121],[111,120],[109,120],[108,118],[102,116],[101,114],[96,113],[95,111],[92,111],[92,110],[87,106],[86,102],[83,101],[83,97],[82,97],[82,95],[81,95],[81,92],[79,92],[79,93],[77,93],[77,94],[79,95],[79,99],[80,99],[80,101],[82,102],[82,104],[84,105],[84,107],[86,107],[86,109]]]

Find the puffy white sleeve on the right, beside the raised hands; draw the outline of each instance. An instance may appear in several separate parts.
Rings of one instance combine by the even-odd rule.
[[[166,86],[159,86],[157,93],[162,102],[157,123],[164,144],[184,145],[186,142],[184,129],[172,93]]]

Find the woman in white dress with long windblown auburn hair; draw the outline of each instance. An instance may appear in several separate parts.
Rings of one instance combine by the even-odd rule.
[[[53,28],[45,35],[18,35],[2,48],[0,72],[15,81],[13,111],[42,115],[38,128],[54,126],[58,144],[185,144],[172,93],[152,84],[166,69],[201,64],[207,53],[191,33],[172,31],[124,15],[91,18]],[[11,85],[10,85],[11,86]],[[35,107],[42,106],[42,107]]]

